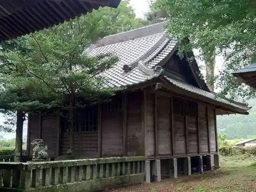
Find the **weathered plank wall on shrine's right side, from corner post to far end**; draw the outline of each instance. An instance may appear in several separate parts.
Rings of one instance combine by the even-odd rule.
[[[145,98],[147,158],[217,153],[214,106],[162,92]]]

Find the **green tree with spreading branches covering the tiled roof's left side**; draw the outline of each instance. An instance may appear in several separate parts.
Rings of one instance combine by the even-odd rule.
[[[118,9],[100,8],[70,22],[15,39],[15,43],[6,42],[6,49],[1,51],[2,108],[21,112],[23,117],[31,110],[53,107],[69,111],[73,151],[74,113],[82,107],[82,100],[95,101],[114,91],[104,88],[106,79],[100,73],[118,59],[111,54],[89,57],[84,49],[106,35],[144,25],[127,4],[127,1],[121,2]],[[22,130],[18,114],[17,130]],[[16,136],[16,141],[17,138],[20,136]]]

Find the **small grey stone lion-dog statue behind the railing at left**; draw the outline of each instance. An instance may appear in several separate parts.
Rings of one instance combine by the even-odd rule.
[[[34,139],[31,142],[31,145],[34,146],[33,148],[33,159],[41,159],[46,160],[48,158],[47,153],[47,145],[44,145],[44,140],[42,139]]]

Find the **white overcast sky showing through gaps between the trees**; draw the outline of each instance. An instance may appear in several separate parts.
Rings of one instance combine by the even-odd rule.
[[[142,18],[144,16],[144,13],[146,13],[149,10],[149,7],[150,7],[149,2],[150,2],[150,0],[130,0],[130,4],[134,8],[137,17]],[[199,51],[194,50],[194,53],[195,53],[195,55],[198,55]],[[220,56],[217,56],[217,58],[216,58],[216,64],[217,64],[216,73],[218,72],[218,66],[221,66],[222,63],[223,63],[223,58]],[[198,64],[204,65],[204,62],[198,60]],[[204,71],[201,71],[201,72],[203,74],[205,73]],[[4,118],[0,116],[0,124],[2,124],[3,121],[4,121]],[[5,139],[11,139],[11,138],[15,137],[14,133],[9,133],[9,134],[0,133],[0,135],[3,135]],[[27,136],[27,123],[24,124],[23,135]]]

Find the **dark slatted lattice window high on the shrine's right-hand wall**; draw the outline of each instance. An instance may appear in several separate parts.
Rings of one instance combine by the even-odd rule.
[[[176,115],[198,117],[198,103],[180,97],[173,97],[173,112]]]

